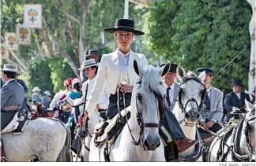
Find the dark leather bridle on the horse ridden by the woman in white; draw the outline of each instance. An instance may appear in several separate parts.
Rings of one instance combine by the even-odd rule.
[[[138,80],[136,84],[141,84],[141,82],[142,82],[142,80]],[[137,124],[140,127],[139,138],[138,138],[137,141],[134,139],[134,136],[132,135],[131,130],[130,130],[130,126],[129,126],[128,120],[126,119],[127,120],[127,126],[128,126],[129,131],[130,131],[130,135],[131,135],[131,137],[133,139],[134,145],[135,146],[141,146],[144,150],[145,150],[145,146],[142,143],[142,138],[143,138],[142,137],[142,133],[143,133],[144,129],[146,127],[160,128],[164,124],[164,98],[160,94],[158,94],[156,91],[153,91],[151,88],[150,88],[150,90],[153,92],[153,94],[156,97],[156,101],[158,102],[158,113],[159,113],[159,116],[160,116],[159,123],[158,124],[153,124],[153,123],[145,124],[143,122],[143,118],[142,118],[143,110],[138,109],[138,106],[137,106],[137,102],[141,101],[141,96],[140,95],[136,95],[136,109],[137,109],[136,117],[137,117]],[[125,95],[124,94],[123,94],[123,101],[125,102]],[[126,110],[126,108],[125,108],[125,110]],[[126,118],[127,118],[127,116],[126,116]]]

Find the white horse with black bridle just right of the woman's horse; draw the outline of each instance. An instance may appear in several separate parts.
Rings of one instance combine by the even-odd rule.
[[[205,72],[197,77],[193,72],[186,72],[180,66],[177,68],[175,82],[179,84],[178,101],[175,103],[173,113],[179,122],[186,138],[198,139],[198,144],[180,153],[180,160],[202,161],[200,136],[196,127],[201,109],[202,100],[205,95],[203,81]],[[199,136],[199,138],[197,138]]]

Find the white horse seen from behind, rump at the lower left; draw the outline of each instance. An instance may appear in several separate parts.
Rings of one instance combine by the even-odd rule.
[[[28,121],[23,133],[2,133],[8,161],[71,161],[70,132],[58,120],[38,118]]]

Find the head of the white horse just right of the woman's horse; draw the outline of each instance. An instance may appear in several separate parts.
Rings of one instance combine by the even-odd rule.
[[[206,89],[203,84],[205,72],[196,76],[194,72],[188,72],[178,66],[175,82],[179,84],[178,104],[183,113],[187,126],[194,126],[199,119],[202,101],[205,98]]]

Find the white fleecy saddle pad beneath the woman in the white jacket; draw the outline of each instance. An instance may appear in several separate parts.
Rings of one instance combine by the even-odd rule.
[[[122,117],[126,116],[126,113],[130,113],[130,106],[127,107],[126,110],[123,109],[123,110],[121,111],[121,116],[122,116]],[[115,124],[116,124],[116,122],[118,121],[119,117],[120,117],[120,115],[119,115],[119,113],[118,113],[118,114],[115,115],[114,118],[112,118],[111,120],[107,120],[108,125],[107,125],[107,127],[105,127],[105,129],[104,129],[104,134],[101,135],[101,136],[98,136],[98,137],[96,138],[96,140],[95,140],[96,142],[104,142],[104,140],[107,139],[107,136],[108,136],[107,134],[109,133],[109,131],[111,131],[111,129],[112,129],[113,127],[115,127]],[[96,132],[99,132],[100,128],[101,128],[103,125],[104,125],[104,122],[103,122],[103,123],[100,123],[100,124],[96,124],[96,127],[94,128],[94,129],[95,129],[94,132],[95,132],[95,133],[96,133]]]

